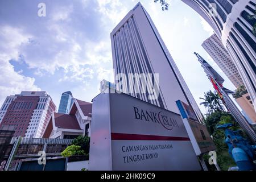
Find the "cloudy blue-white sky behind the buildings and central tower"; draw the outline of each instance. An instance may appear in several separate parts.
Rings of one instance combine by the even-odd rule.
[[[213,90],[193,52],[200,53],[236,89],[201,47],[212,28],[180,0],[162,11],[141,0],[197,104]],[[46,16],[38,16],[45,3]],[[0,105],[22,90],[42,90],[58,107],[61,93],[92,101],[102,79],[113,81],[110,32],[138,3],[135,0],[0,0]],[[200,106],[203,113],[204,106]]]

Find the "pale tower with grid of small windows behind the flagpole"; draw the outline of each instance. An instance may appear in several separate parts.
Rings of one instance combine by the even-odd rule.
[[[240,74],[237,71],[236,65],[234,65],[232,58],[229,56],[221,40],[216,34],[213,34],[202,44],[205,51],[208,52],[210,57],[215,61],[218,67],[225,73],[229,80],[238,88],[240,85],[244,85]]]

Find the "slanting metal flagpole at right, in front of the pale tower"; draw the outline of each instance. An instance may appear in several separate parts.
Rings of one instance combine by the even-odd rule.
[[[207,74],[209,80],[212,78],[214,80],[214,76],[212,73],[207,69],[205,64],[203,63],[205,60],[203,57],[201,57],[198,53],[194,52],[197,56],[197,59],[201,63],[201,66],[204,68],[205,73]],[[205,61],[206,62],[206,61]],[[222,89],[222,85],[214,80],[214,83],[217,85],[218,90],[221,92],[224,100],[224,105],[226,108],[230,111],[236,122],[240,125],[240,127],[246,132],[246,134],[250,137],[253,143],[256,143],[256,134],[254,130],[251,128],[250,124],[247,122],[246,118],[243,117],[240,110],[237,108],[237,106],[234,104],[234,102],[231,100],[231,98],[228,96],[228,94],[225,92],[225,90]]]

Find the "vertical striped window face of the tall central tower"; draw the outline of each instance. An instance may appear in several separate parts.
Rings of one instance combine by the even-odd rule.
[[[118,73],[153,73],[134,16],[131,16],[114,35],[114,47]],[[135,64],[138,61],[141,64]],[[129,64],[126,64],[126,62],[129,62]],[[127,85],[129,85],[129,82],[127,82]],[[164,108],[161,96],[158,97],[158,101],[148,101],[148,92],[146,94],[135,94],[134,90],[132,92],[132,96]]]

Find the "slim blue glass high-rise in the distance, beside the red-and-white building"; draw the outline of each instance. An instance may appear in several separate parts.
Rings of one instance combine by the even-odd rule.
[[[73,96],[70,91],[63,92],[60,98],[58,113],[68,114],[70,107],[73,104]]]

